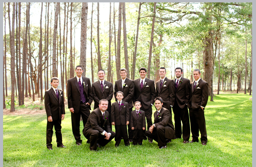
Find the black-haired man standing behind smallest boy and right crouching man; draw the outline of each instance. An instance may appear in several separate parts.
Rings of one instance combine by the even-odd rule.
[[[147,129],[149,130],[149,127],[152,125],[152,106],[156,98],[156,89],[154,85],[154,80],[146,78],[146,68],[140,68],[139,73],[140,78],[133,80],[135,88],[133,103],[135,101],[141,102],[141,109],[145,111],[145,116],[147,119]],[[149,142],[153,142],[151,138],[149,138]]]

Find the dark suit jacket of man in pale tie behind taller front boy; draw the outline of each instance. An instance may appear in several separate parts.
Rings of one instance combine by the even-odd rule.
[[[126,78],[125,79],[125,86],[122,85],[122,79],[119,79],[115,82],[115,87],[114,87],[114,96],[116,99],[116,92],[121,91],[124,94],[123,101],[128,102],[129,104],[129,109],[133,107],[132,105],[132,99],[133,99],[133,94],[134,94],[134,83],[133,80]],[[117,99],[116,99],[117,101]]]

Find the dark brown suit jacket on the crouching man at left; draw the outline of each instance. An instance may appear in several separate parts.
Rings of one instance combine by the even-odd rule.
[[[92,129],[99,131],[100,134],[103,133],[104,131],[106,131],[107,133],[111,133],[109,124],[109,112],[105,111],[104,113],[105,119],[102,118],[102,114],[99,107],[91,112],[83,129],[83,132],[85,132],[85,136]]]

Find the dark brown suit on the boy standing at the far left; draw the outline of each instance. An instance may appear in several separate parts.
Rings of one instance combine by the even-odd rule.
[[[58,89],[59,99],[52,87],[45,91],[45,111],[47,115],[46,126],[46,146],[52,148],[53,127],[55,128],[57,146],[63,145],[61,135],[61,115],[65,114],[63,91]],[[52,116],[52,122],[48,121],[48,116]]]

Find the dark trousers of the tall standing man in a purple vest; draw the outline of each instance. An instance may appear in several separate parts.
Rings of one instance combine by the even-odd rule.
[[[71,112],[71,124],[72,124],[72,132],[74,135],[74,138],[77,143],[82,143],[82,140],[80,138],[80,117],[82,116],[83,119],[83,127],[85,127],[85,124],[87,122],[87,119],[90,115],[90,109],[89,105],[86,104],[86,102],[80,102],[80,110],[78,113],[72,113]]]

